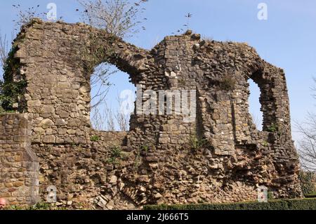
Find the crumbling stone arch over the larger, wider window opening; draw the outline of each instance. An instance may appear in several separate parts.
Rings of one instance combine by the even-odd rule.
[[[88,27],[90,33],[84,40],[81,48],[81,57],[84,70],[84,77],[92,74],[93,68],[107,62],[114,65],[121,72],[129,75],[131,83],[136,86],[142,80],[143,72],[147,71],[148,51],[128,44],[112,34],[108,34],[100,29]],[[88,84],[89,80],[88,80]],[[91,91],[91,90],[90,90]],[[131,116],[131,123],[133,123]]]

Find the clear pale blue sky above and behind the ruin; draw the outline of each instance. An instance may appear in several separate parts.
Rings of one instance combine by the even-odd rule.
[[[133,2],[133,1],[131,1]],[[11,37],[17,11],[13,4],[22,8],[39,6],[48,11],[47,4],[55,3],[58,17],[65,22],[79,22],[80,8],[76,0],[1,0],[1,34]],[[267,20],[259,20],[258,4],[268,7]],[[142,30],[131,39],[132,44],[150,49],[167,35],[183,28],[185,15],[192,14],[190,29],[217,41],[246,42],[256,48],[261,58],[282,67],[286,73],[289,90],[291,119],[302,122],[308,112],[316,112],[311,88],[316,77],[316,1],[315,0],[149,0],[143,17],[147,18]],[[110,79],[115,84],[108,95],[112,102],[124,89],[133,89],[128,75],[119,72]],[[251,113],[261,117],[259,91],[251,84]],[[113,101],[114,103],[114,101]],[[111,103],[110,103],[111,104]],[[115,103],[114,103],[115,107]],[[294,140],[300,136],[294,131]]]

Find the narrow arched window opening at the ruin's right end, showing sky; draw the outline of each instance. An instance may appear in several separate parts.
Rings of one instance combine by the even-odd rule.
[[[263,112],[261,111],[261,91],[258,85],[252,80],[248,79],[249,84],[249,114],[251,114],[252,121],[259,131],[263,130]]]

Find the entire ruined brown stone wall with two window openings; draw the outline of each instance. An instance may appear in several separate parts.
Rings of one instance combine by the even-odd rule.
[[[0,197],[10,204],[45,202],[51,185],[56,204],[73,208],[241,202],[259,186],[301,197],[284,71],[247,44],[187,31],[145,50],[82,23],[35,19],[10,57],[6,81],[23,83],[15,113],[0,117]],[[195,90],[196,116],[134,113],[129,132],[93,130],[90,77],[102,62],[142,91]],[[261,90],[263,131],[249,114],[249,79]]]

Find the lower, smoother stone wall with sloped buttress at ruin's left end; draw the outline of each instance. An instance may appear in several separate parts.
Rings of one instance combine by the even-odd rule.
[[[31,150],[29,118],[24,114],[0,117],[0,197],[11,205],[39,200],[39,160]]]

